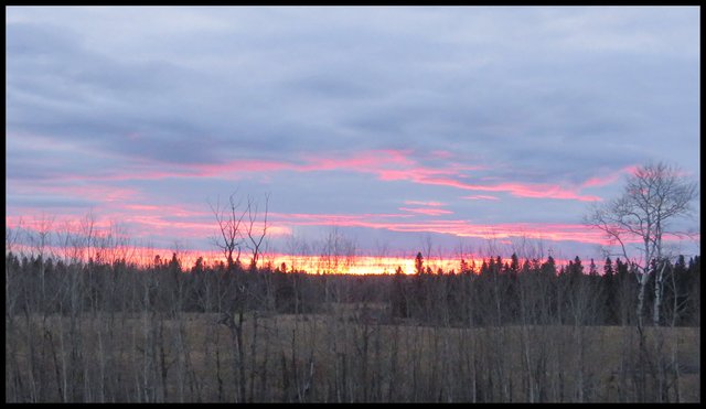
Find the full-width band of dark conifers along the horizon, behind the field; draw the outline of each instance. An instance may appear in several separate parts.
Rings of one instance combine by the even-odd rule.
[[[309,275],[244,268],[239,263],[206,266],[202,259],[183,268],[156,258],[150,267],[122,260],[73,262],[52,258],[6,256],[9,314],[68,312],[278,313],[321,312],[332,302],[384,304],[385,319],[425,325],[635,325],[638,277],[620,258],[608,257],[602,271],[576,257],[557,267],[545,261],[488,258],[477,270],[464,260],[459,272],[432,271],[417,256],[414,275]],[[654,275],[653,275],[654,277]],[[700,325],[700,257],[678,256],[667,262],[662,286],[663,325]],[[654,280],[654,278],[652,278]],[[650,283],[654,287],[654,283]],[[652,294],[648,293],[646,311]],[[379,317],[382,319],[382,317]]]

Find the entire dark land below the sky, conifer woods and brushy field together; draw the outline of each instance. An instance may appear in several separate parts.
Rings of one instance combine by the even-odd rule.
[[[419,255],[416,267],[308,275],[10,252],[6,400],[699,399],[683,349],[698,329],[680,329],[700,325],[699,257],[667,266],[662,326],[640,333],[638,278],[620,259],[431,271]]]

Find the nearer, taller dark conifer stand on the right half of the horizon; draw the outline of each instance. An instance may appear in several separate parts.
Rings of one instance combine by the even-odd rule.
[[[461,260],[460,273],[424,268],[417,255],[416,273],[393,277],[394,316],[426,324],[486,325],[635,325],[634,269],[608,257],[602,271],[579,257],[566,266],[555,260],[524,260],[512,255],[483,260],[478,271]],[[652,277],[654,280],[654,275]],[[662,286],[663,325],[700,325],[700,258],[680,256],[667,262]],[[650,283],[652,288],[653,282]],[[649,293],[646,311],[653,308]]]

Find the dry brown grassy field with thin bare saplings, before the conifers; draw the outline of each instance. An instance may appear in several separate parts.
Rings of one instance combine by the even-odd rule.
[[[648,329],[641,349],[634,327],[429,327],[383,311],[247,313],[240,333],[218,314],[6,317],[6,399],[700,401],[699,327]],[[678,377],[660,384],[671,363]]]

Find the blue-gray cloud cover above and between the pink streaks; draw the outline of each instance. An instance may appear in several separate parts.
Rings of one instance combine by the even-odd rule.
[[[8,8],[6,34],[7,170],[23,183],[374,149],[498,183],[577,186],[649,159],[699,170],[698,8]],[[309,176],[135,186],[169,202],[265,185],[312,213],[469,194]],[[523,201],[453,209],[580,218],[580,203]]]

